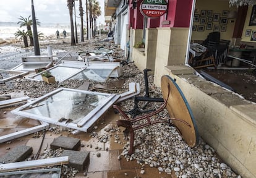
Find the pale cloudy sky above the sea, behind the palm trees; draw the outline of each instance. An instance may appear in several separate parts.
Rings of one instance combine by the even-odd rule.
[[[101,6],[101,16],[97,23],[104,23],[104,0],[98,0]],[[33,0],[35,16],[41,23],[70,23],[67,0]],[[82,0],[85,11],[85,0]],[[75,14],[79,18],[79,1],[75,1]],[[19,22],[20,15],[27,18],[32,14],[31,0],[9,0],[0,2],[0,22]],[[74,13],[74,11],[73,11]],[[30,17],[32,19],[32,17]],[[83,16],[83,20],[86,20]]]

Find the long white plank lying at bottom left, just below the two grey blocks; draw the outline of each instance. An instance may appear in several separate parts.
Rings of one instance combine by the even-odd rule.
[[[0,164],[0,172],[56,166],[56,165],[62,165],[62,164],[68,164],[68,163],[69,163],[69,156],[38,159],[38,160],[32,160],[32,161],[20,161],[16,163]]]

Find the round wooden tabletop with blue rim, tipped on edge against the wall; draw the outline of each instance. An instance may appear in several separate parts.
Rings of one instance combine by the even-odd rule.
[[[176,120],[172,120],[172,123],[176,125],[187,145],[191,147],[196,146],[198,143],[197,125],[195,124],[192,110],[190,109],[189,103],[187,103],[181,88],[179,88],[173,78],[169,77],[168,75],[164,75],[161,77],[161,90],[164,100],[168,98],[166,108],[169,112],[169,116],[176,119],[181,119],[189,125]]]

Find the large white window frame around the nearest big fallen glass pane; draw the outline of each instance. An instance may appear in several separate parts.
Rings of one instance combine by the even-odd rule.
[[[22,111],[23,109],[26,109],[30,107],[33,104],[40,103],[41,101],[45,100],[46,98],[49,98],[56,93],[59,93],[60,91],[74,91],[79,93],[85,93],[87,95],[103,95],[108,96],[105,98],[105,101],[102,102],[100,105],[96,106],[92,111],[90,111],[86,116],[84,116],[82,119],[80,119],[77,124],[75,123],[64,123],[64,122],[56,122],[56,119],[52,119],[51,117],[45,117],[45,116],[38,116],[37,114],[28,113],[25,111]],[[85,91],[85,90],[76,90],[76,89],[70,89],[70,88],[58,88],[54,91],[51,91],[50,93],[41,96],[40,98],[37,98],[37,100],[32,101],[30,103],[24,104],[23,106],[20,106],[19,108],[16,108],[11,111],[13,114],[17,114],[19,116],[28,117],[31,119],[36,119],[38,121],[47,122],[49,124],[55,124],[55,125],[61,125],[64,127],[68,127],[70,129],[76,129],[83,132],[87,132],[87,130],[96,122],[113,104],[118,100],[120,96],[116,94],[108,94],[108,93],[99,93],[94,91]]]

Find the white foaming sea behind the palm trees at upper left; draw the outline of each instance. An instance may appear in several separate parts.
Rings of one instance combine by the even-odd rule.
[[[27,30],[27,27],[21,27],[17,22],[0,22],[0,39],[9,40],[15,38],[14,33],[19,30]],[[33,29],[33,27],[32,27]],[[59,30],[62,33],[63,30],[66,30],[67,33],[70,32],[70,24],[67,23],[41,23],[37,25],[37,32],[43,33],[45,36],[55,35],[56,30]],[[78,27],[78,29],[80,29]]]

